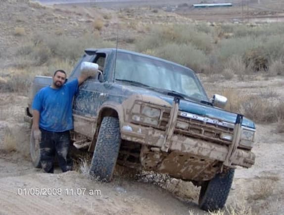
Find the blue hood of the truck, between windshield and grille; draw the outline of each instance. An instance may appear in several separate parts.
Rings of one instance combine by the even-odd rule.
[[[163,93],[163,92],[155,91],[152,89],[147,89],[144,87],[133,86],[133,85],[127,85],[127,86],[124,85],[123,88],[127,89],[126,91],[128,90],[132,91],[132,93],[130,94],[139,93],[141,95],[156,96],[158,98],[161,98],[167,101],[171,105],[173,104],[173,101],[174,101],[174,96],[167,95],[166,92]],[[179,110],[185,111],[191,114],[196,114],[196,115],[206,116],[206,117],[213,118],[213,119],[218,119],[220,121],[225,121],[225,122],[232,123],[232,124],[235,124],[236,119],[237,119],[236,113],[228,112],[221,108],[212,107],[210,105],[198,103],[195,101],[189,101],[188,98],[187,100],[181,98]],[[245,117],[243,118],[242,126],[255,129],[254,122],[252,122],[251,120]]]

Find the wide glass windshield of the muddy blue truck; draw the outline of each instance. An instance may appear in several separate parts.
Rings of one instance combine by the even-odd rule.
[[[118,52],[115,79],[139,82],[143,85],[172,90],[191,98],[208,101],[193,71],[156,59]]]

